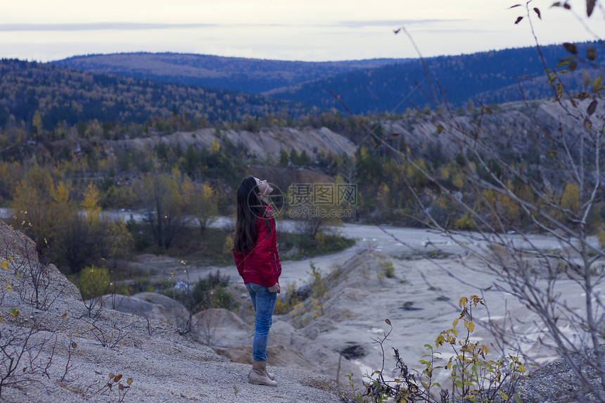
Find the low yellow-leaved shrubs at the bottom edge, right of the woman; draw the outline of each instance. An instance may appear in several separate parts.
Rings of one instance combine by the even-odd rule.
[[[374,373],[366,374],[368,383],[361,393],[355,389],[352,376],[349,376],[350,387],[355,392],[357,402],[386,402],[393,399],[395,402],[480,402],[495,403],[516,400],[520,402],[517,385],[519,380],[526,376],[525,359],[517,353],[511,352],[507,357],[493,360],[488,359],[488,347],[479,341],[472,342],[472,333],[475,329],[473,322],[473,308],[483,305],[483,300],[477,295],[459,300],[461,314],[454,319],[452,328],[442,331],[432,344],[426,344],[428,354],[419,359],[422,371],[409,370],[402,361],[399,351],[393,347],[395,357],[395,379],[385,378],[385,351],[383,343],[393,331],[393,326],[386,319],[390,330],[382,337],[373,338],[374,344],[380,347],[383,356],[382,368]],[[464,329],[459,337],[457,326],[464,321]],[[449,359],[442,358],[440,347],[451,347],[452,353],[446,352]],[[451,388],[440,385],[434,378],[438,371],[445,371],[451,381]],[[439,395],[431,392],[440,389]],[[367,400],[366,398],[369,398]],[[514,399],[514,400],[513,400]]]

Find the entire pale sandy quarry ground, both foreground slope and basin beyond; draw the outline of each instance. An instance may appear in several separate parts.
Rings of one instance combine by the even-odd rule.
[[[5,241],[14,238],[13,231],[2,224],[0,238]],[[288,226],[280,224],[282,231]],[[457,317],[459,297],[480,293],[495,281],[494,276],[477,271],[481,269],[478,262],[469,260],[459,247],[438,234],[350,224],[340,231],[356,238],[356,245],[312,260],[328,279],[329,297],[321,301],[323,312],[306,300],[294,314],[274,316],[269,336],[269,367],[278,375],[279,387],[270,390],[246,382],[249,366],[243,363],[249,362],[251,356],[253,315],[234,266],[219,269],[234,279],[230,288],[240,298],[241,309],[237,313],[210,309],[203,313],[196,331],[185,336],[176,331],[184,318],[182,307],[162,295],[108,296],[94,323],[106,335],[115,331],[116,326],[127,326],[128,334],[115,347],[101,345],[98,332],[89,327],[91,319],[85,316],[77,289],[56,268],[51,267],[52,291],[60,290],[62,294],[46,311],[32,309],[20,300],[20,286],[14,275],[10,270],[0,270],[0,281],[13,283],[13,290],[2,294],[0,307],[4,307],[1,312],[4,321],[0,323],[0,331],[6,334],[11,329],[27,329],[34,321],[42,326],[34,337],[36,340],[58,340],[54,342],[58,344],[49,375],[38,377],[21,389],[5,388],[2,398],[11,402],[115,401],[118,397],[115,391],[112,398],[99,391],[107,382],[108,373],[123,373],[134,379],[132,390],[127,388],[129,395],[125,401],[339,402],[343,392],[349,390],[347,374],[352,373],[359,388],[364,373],[381,368],[383,357],[373,339],[388,331],[385,319],[393,325],[389,340],[383,344],[385,376],[389,376],[394,366],[391,347],[400,351],[408,366],[419,369],[418,359],[426,352],[424,345],[433,343],[440,331],[450,327]],[[539,248],[556,247],[547,237],[535,236],[532,241]],[[421,258],[428,245],[432,245],[430,248],[438,245],[447,255],[433,261]],[[15,256],[21,254],[18,248],[7,250]],[[179,264],[166,257],[155,260],[158,260],[156,267],[158,262],[165,267],[167,276]],[[386,262],[395,268],[393,278],[381,276]],[[309,260],[286,260],[283,267],[284,289],[291,283],[301,286],[308,281]],[[202,277],[217,267],[189,269],[192,276]],[[562,279],[558,287],[561,300],[580,312],[582,298],[578,297],[582,292],[578,284]],[[602,292],[603,286],[599,287]],[[483,296],[492,321],[511,318],[516,331],[526,336],[520,346],[515,340],[507,342],[521,347],[535,362],[555,358],[537,342],[542,331],[526,307],[505,293],[485,291]],[[11,317],[7,313],[9,307],[18,307],[24,314]],[[115,312],[113,307],[121,312]],[[476,319],[487,316],[487,311],[476,311]],[[561,320],[560,326],[568,323]],[[70,350],[66,346],[70,340],[78,346],[72,352],[74,367],[60,381],[68,365]],[[478,326],[473,340],[490,345],[495,351],[492,357],[499,357],[488,331]],[[50,354],[53,342],[46,343],[44,354]],[[435,374],[434,380],[444,377]]]

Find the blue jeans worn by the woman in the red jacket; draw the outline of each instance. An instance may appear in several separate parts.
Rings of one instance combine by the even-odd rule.
[[[267,361],[267,343],[269,328],[273,321],[273,311],[277,293],[269,293],[269,288],[255,283],[246,284],[252,305],[256,312],[254,316],[254,341],[252,356],[257,361]]]

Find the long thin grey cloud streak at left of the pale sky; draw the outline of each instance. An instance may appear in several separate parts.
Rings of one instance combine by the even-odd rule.
[[[0,24],[0,31],[168,30],[174,28],[203,28],[215,26],[216,24],[158,23]]]

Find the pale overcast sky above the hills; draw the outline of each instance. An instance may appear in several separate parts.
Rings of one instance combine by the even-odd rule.
[[[4,0],[0,58],[49,61],[92,53],[174,52],[272,60],[416,58],[532,46],[516,0]],[[604,8],[587,22],[533,0],[540,44],[604,37]],[[523,2],[525,4],[525,2]],[[577,9],[576,9],[577,8]],[[588,24],[588,25],[585,25]]]

